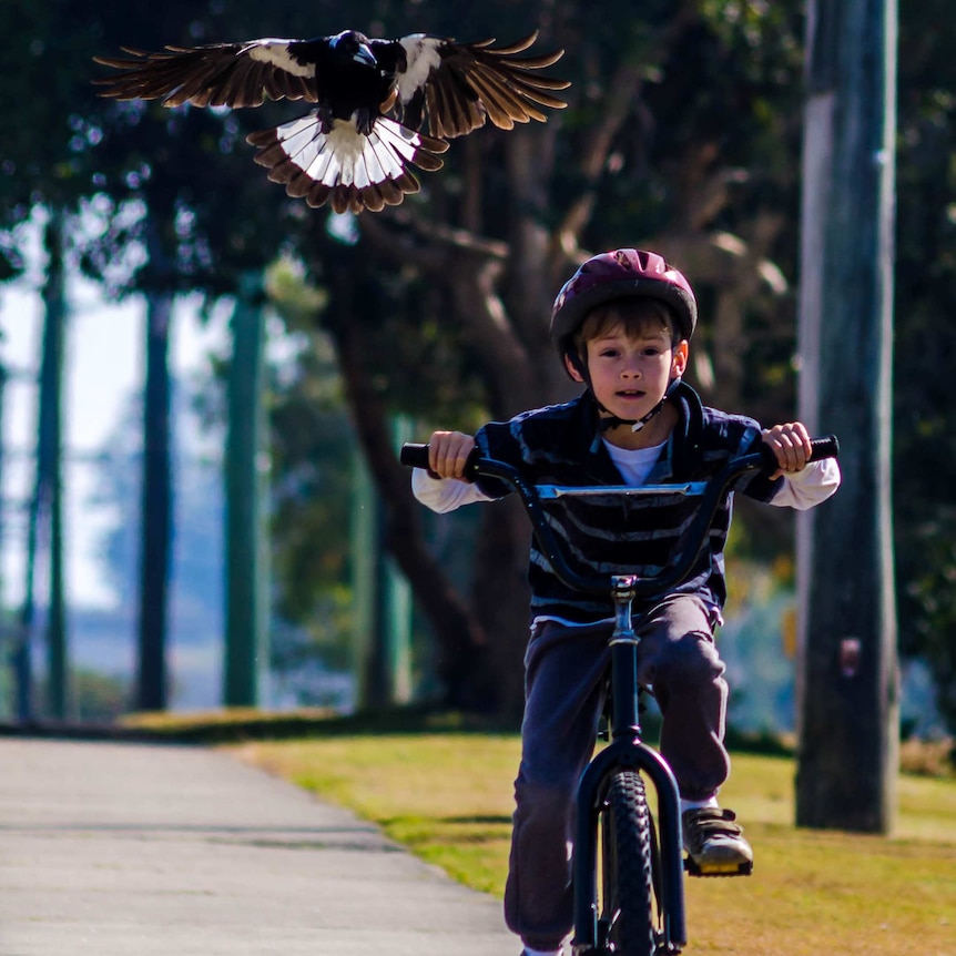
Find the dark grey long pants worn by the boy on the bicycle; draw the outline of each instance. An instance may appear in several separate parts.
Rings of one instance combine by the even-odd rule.
[[[714,626],[714,613],[688,594],[671,596],[634,621],[641,637],[638,678],[653,685],[663,715],[661,752],[689,800],[716,793],[730,773],[723,745],[728,688]],[[505,918],[535,949],[557,949],[572,927],[574,794],[594,749],[610,630],[545,622],[525,655]]]

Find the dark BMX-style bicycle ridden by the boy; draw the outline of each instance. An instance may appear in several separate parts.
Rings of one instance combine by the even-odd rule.
[[[811,444],[813,460],[838,455],[836,436]],[[427,468],[428,446],[403,446],[400,461]],[[663,756],[642,740],[640,695],[648,691],[637,677],[640,639],[631,624],[631,607],[637,598],[661,594],[690,573],[721,501],[738,479],[751,471],[775,468],[773,452],[764,446],[732,459],[703,481],[569,487],[529,484],[518,469],[477,454],[468,462],[469,477],[496,478],[517,491],[538,547],[566,584],[600,596],[610,588],[614,603],[609,638],[610,742],[591,760],[578,785],[571,863],[574,956],[674,956],[687,945],[683,873],[706,874],[695,873],[693,862],[683,855],[677,780]],[[568,567],[543,518],[541,502],[589,495],[685,495],[701,501],[677,549],[678,559],[661,574],[587,577]],[[657,796],[657,816],[648,801],[645,780]],[[749,873],[746,868],[740,875]]]

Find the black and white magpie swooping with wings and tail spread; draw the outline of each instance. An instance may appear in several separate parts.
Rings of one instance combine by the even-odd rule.
[[[425,33],[375,40],[345,30],[155,53],[124,47],[125,58],[94,58],[120,72],[93,83],[103,87],[101,96],[166,106],[260,106],[266,98],[315,103],[297,120],[247,136],[258,148],[255,162],[311,206],[378,212],[418,192],[409,165],[440,169],[448,139],[488,119],[501,130],[543,122],[541,108],[567,105],[553,92],[570,83],[538,72],[563,50],[520,55],[536,39],[495,47],[495,40],[457,43]]]

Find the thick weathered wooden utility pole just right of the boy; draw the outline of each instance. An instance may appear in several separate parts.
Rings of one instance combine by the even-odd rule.
[[[898,751],[891,511],[896,0],[811,0],[801,417],[843,487],[801,516],[796,823],[892,830]]]

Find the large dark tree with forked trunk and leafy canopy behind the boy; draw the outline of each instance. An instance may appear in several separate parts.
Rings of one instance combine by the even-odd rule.
[[[539,26],[542,44],[571,51],[562,68],[577,82],[566,115],[510,133],[482,130],[456,143],[446,169],[427,179],[419,200],[363,216],[346,242],[340,221],[286,200],[261,174],[253,176],[247,155],[238,156],[247,125],[269,122],[283,104],[252,116],[250,111],[163,113],[154,106],[104,113],[103,144],[116,157],[118,173],[125,171],[119,180],[104,174],[106,186],[121,196],[130,170],[142,170],[130,195],[149,195],[150,215],[173,222],[175,212],[172,247],[184,286],[210,295],[234,286],[275,236],[272,248],[296,250],[316,284],[329,291],[321,321],[335,340],[357,434],[388,506],[389,547],[431,622],[451,702],[507,713],[520,708],[527,530],[512,505],[489,508],[476,545],[480,572],[472,593],[461,594],[424,543],[407,475],[386,440],[388,416],[401,407],[425,418],[427,409],[435,420],[447,409],[446,421],[474,427],[488,415],[501,417],[568,395],[547,340],[547,313],[555,291],[591,245],[654,245],[700,276],[702,295],[723,303],[719,334],[702,343],[702,352],[711,364],[733,357],[744,334],[734,306],[747,297],[757,304],[756,293],[772,302],[785,291],[769,262],[781,232],[779,216],[766,211],[774,205],[774,177],[783,176],[780,192],[787,175],[781,172],[780,148],[770,144],[782,130],[793,135],[793,126],[787,131],[767,119],[777,114],[764,105],[771,92],[782,95],[792,88],[786,70],[767,81],[747,77],[742,64],[761,49],[760,40],[770,44],[769,38],[781,37],[774,43],[785,49],[796,13],[754,14],[747,8],[746,22],[735,27],[724,8],[657,4],[597,24],[577,4],[555,11],[540,3],[518,12],[490,2],[469,10],[466,23],[445,7],[382,8],[387,22],[377,32],[385,34],[401,32],[409,22],[436,33],[464,35],[467,27],[472,35],[502,37]],[[325,12],[322,6],[311,17],[321,21]],[[378,12],[369,6],[352,16],[365,13],[374,22]],[[303,18],[299,11],[288,13],[294,33]],[[389,23],[401,27],[389,30]],[[263,32],[252,19],[242,23],[240,14],[227,33],[215,32],[222,27],[215,18],[193,21],[191,40],[234,35],[240,24],[248,28],[246,35]],[[311,31],[315,26],[321,23]],[[735,70],[746,81],[734,101],[709,98],[705,83],[687,89],[682,78],[700,50],[710,54],[702,61],[711,68],[708,79]],[[161,115],[163,124],[155,122]],[[683,138],[672,132],[675,115],[688,119],[677,124]],[[700,115],[716,119],[695,131],[692,120]],[[216,125],[221,132],[214,139]],[[724,149],[728,128],[740,134],[733,156]],[[204,143],[220,149],[201,149]],[[753,170],[772,160],[764,165],[769,173],[749,181],[731,162],[747,149]],[[213,171],[220,184],[248,200],[224,210],[212,190]],[[163,189],[167,195],[157,202]],[[746,209],[754,197],[761,215]],[[262,215],[263,209],[269,214]],[[317,223],[335,230],[323,232]],[[779,337],[786,340],[791,333],[784,329]],[[403,356],[409,360],[396,367]],[[437,367],[429,358],[438,359]],[[744,380],[741,374],[724,377],[728,394]]]

